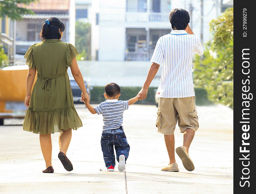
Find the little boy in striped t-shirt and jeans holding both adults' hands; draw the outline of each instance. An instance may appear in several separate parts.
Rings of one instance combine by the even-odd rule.
[[[137,102],[138,96],[127,101],[118,100],[120,97],[120,87],[116,83],[108,83],[105,86],[104,97],[107,99],[93,108],[86,100],[84,104],[92,114],[102,114],[103,132],[101,136],[101,149],[107,171],[114,171],[115,153],[117,154],[118,170],[125,169],[125,163],[129,156],[130,146],[127,142],[123,124],[123,112],[129,105]]]

